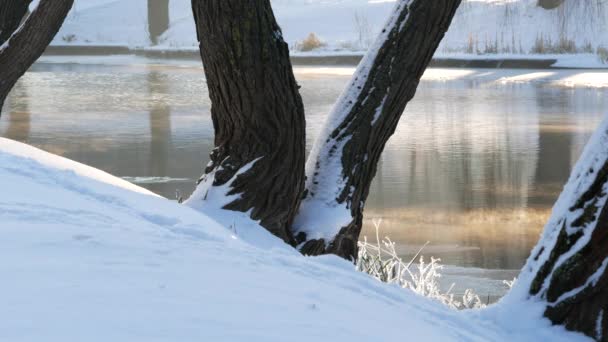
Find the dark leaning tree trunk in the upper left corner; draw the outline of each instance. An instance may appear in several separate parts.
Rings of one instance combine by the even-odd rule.
[[[0,47],[0,110],[17,80],[42,55],[74,0],[40,0],[21,28]]]

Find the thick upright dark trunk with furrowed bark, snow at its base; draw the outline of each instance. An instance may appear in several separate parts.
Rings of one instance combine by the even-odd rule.
[[[268,0],[192,0],[215,149],[187,204],[249,213],[287,242],[304,188],[304,107]]]

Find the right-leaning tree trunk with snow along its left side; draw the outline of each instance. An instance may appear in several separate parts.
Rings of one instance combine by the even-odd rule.
[[[306,164],[294,235],[305,254],[357,255],[363,208],[395,131],[460,0],[400,0],[359,64]]]

